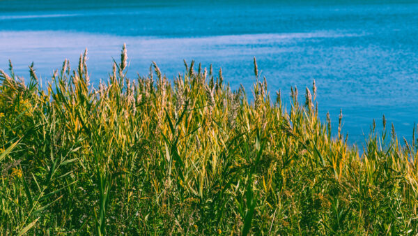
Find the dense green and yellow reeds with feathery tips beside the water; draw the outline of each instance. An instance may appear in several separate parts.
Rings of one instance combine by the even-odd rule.
[[[385,119],[359,156],[315,85],[286,111],[255,59],[251,103],[221,71],[129,80],[126,59],[96,88],[86,53],[47,88],[0,71],[0,234],[418,233],[418,145]]]

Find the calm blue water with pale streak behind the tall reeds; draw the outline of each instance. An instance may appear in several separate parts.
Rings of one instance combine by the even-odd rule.
[[[0,1],[0,68],[28,77],[35,61],[47,79],[88,47],[94,84],[127,43],[132,77],[156,61],[173,78],[194,59],[249,92],[256,56],[271,94],[315,79],[321,117],[336,124],[341,108],[351,142],[383,114],[406,138],[418,121],[418,1],[56,2]]]

